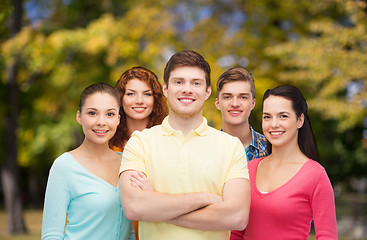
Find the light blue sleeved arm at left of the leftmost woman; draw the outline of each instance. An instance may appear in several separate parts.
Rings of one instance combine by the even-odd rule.
[[[56,159],[48,177],[42,219],[42,239],[64,239],[66,210],[70,201],[66,166]]]

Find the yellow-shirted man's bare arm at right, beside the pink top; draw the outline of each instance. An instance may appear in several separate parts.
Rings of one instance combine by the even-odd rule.
[[[199,230],[243,230],[250,212],[250,182],[244,178],[228,180],[223,201],[169,220],[169,223]]]

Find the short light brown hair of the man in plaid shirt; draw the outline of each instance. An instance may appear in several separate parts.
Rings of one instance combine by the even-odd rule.
[[[250,84],[252,99],[255,98],[254,79],[251,73],[249,73],[243,67],[230,68],[227,71],[225,71],[224,73],[222,73],[222,75],[220,75],[218,82],[217,82],[217,97],[219,97],[219,93],[220,91],[222,91],[224,84],[229,83],[229,82],[234,82],[234,81],[248,82]]]

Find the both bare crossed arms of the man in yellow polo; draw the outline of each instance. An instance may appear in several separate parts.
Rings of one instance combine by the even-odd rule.
[[[228,180],[223,196],[212,193],[167,194],[151,188],[144,190],[132,184],[140,175],[135,170],[121,173],[120,194],[125,215],[131,220],[166,221],[181,227],[219,231],[243,230],[250,209],[250,183],[244,178]]]

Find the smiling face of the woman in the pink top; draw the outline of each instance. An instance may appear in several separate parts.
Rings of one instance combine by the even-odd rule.
[[[290,100],[279,96],[264,100],[262,128],[273,148],[298,145],[298,129],[303,121],[304,115],[296,116]]]

